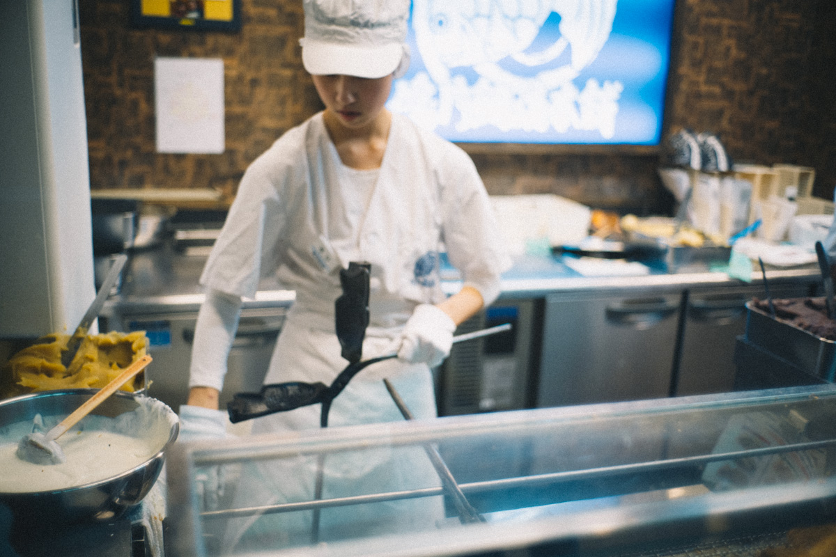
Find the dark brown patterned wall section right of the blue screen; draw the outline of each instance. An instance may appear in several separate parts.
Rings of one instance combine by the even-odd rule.
[[[813,166],[829,197],[834,16],[821,0],[681,1],[668,130],[715,131],[741,162]]]

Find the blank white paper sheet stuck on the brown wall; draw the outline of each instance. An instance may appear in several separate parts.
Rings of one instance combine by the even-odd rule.
[[[156,58],[154,90],[157,152],[223,153],[221,58]]]

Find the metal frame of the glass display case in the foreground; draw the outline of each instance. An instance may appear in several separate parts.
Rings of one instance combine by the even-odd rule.
[[[812,412],[804,413],[836,415],[836,387],[828,384],[543,408],[425,422],[375,424],[374,427],[312,430],[293,437],[252,436],[222,443],[178,443],[168,457],[168,516],[171,522],[168,546],[175,557],[206,555],[201,542],[202,524],[206,522],[212,527],[217,519],[443,494],[442,487],[431,487],[259,508],[201,511],[193,481],[196,468],[298,454],[430,444],[441,448],[459,480],[461,492],[477,501],[475,506],[488,517],[486,523],[313,544],[269,554],[368,557],[502,554],[506,551],[510,555],[513,551],[537,548],[538,555],[598,557],[625,554],[627,550],[654,549],[672,542],[693,544],[706,539],[785,532],[836,521],[836,479],[830,477],[832,470],[829,468],[824,477],[813,481],[793,480],[722,492],[706,489],[700,484],[699,474],[695,475],[695,471],[704,470],[708,463],[810,450],[829,451],[828,466],[833,468],[836,428],[833,431],[825,428],[823,434],[798,443],[684,455],[667,446],[669,441],[675,441],[674,436],[670,436],[663,439],[665,448],[659,458],[635,458],[635,461],[625,458],[626,461],[621,463],[548,472],[532,470],[476,480],[467,479],[466,473],[461,473],[456,458],[456,448],[475,438],[549,438],[550,434],[582,432],[590,424],[595,428],[604,426],[600,433],[611,429],[609,424],[634,427],[650,423],[648,420],[658,421],[661,424],[659,431],[664,432],[670,427],[682,428],[683,424],[687,427],[689,420],[699,427],[696,418],[700,416],[722,419],[726,415],[764,408],[789,409],[790,412],[793,408],[812,409]],[[813,418],[810,423],[817,426],[817,420]],[[625,431],[629,429],[625,428]],[[594,442],[597,437],[591,435],[590,440]],[[600,437],[606,439],[603,433]],[[550,489],[554,486],[560,489]],[[544,493],[560,495],[552,500],[538,499],[537,495]],[[486,503],[492,500],[490,497],[478,499],[485,494],[523,495],[517,498],[516,508],[509,508],[496,501]],[[498,500],[504,499],[499,497]],[[548,512],[543,513],[543,509]]]

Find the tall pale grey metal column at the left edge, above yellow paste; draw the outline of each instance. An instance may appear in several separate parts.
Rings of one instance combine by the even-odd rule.
[[[95,297],[74,0],[0,2],[0,337],[72,332]]]

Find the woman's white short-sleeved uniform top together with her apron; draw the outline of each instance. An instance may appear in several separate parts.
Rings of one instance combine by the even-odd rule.
[[[352,190],[362,181],[340,162],[322,114],[284,134],[242,179],[201,283],[232,296],[252,297],[258,281],[275,272],[283,286],[296,292],[265,383],[330,384],[347,365],[334,334],[334,301],[341,294],[339,268],[349,261],[371,263],[364,359],[390,352],[416,306],[444,298],[441,246],[464,284],[476,288],[486,304],[498,296],[499,275],[509,261],[482,181],[461,149],[395,115],[368,204],[358,203],[358,192]],[[204,370],[192,373],[217,375],[219,363],[206,362]],[[389,360],[367,367],[349,382],[334,400],[329,427],[401,421],[384,377],[395,384],[416,419],[435,417],[426,363]],[[319,412],[316,405],[257,418],[252,433],[319,428]],[[309,500],[315,468],[315,459],[306,458],[249,463],[242,470],[236,502],[257,506]],[[439,484],[420,448],[329,455],[324,473],[325,497]],[[328,509],[322,513],[320,539],[426,528],[426,521],[441,518],[442,511],[438,497]],[[246,531],[241,541],[250,548],[307,543],[311,517],[306,511],[236,520],[227,541],[236,543]],[[362,528],[354,531],[358,524]]]

